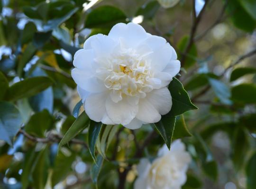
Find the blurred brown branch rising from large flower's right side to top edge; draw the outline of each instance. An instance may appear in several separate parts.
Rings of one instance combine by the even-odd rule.
[[[192,17],[193,17],[193,24],[192,24],[192,28],[191,28],[191,31],[190,31],[190,37],[189,37],[189,42],[183,52],[183,55],[181,57],[181,66],[183,67],[184,66],[184,62],[187,58],[187,56],[185,56],[185,54],[188,54],[188,52],[190,51],[193,43],[194,43],[194,35],[196,33],[196,30],[197,30],[197,27],[201,21],[201,18],[202,18],[202,15],[203,15],[203,12],[208,4],[209,0],[205,0],[205,3],[204,3],[204,6],[203,8],[201,9],[200,13],[198,14],[198,16],[196,17],[196,11],[195,11],[195,0],[193,0],[193,8],[192,8]]]

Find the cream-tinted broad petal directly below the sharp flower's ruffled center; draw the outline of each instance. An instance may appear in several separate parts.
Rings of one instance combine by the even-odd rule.
[[[114,103],[110,97],[107,99],[106,109],[110,120],[122,125],[130,123],[138,112],[138,106],[131,105],[126,99]]]

